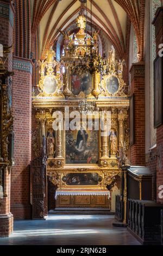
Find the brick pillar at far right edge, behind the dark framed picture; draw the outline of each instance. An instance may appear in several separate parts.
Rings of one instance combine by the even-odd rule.
[[[158,10],[156,11],[153,25],[155,26],[156,53],[158,55],[160,50],[159,45],[163,44],[163,6],[158,8]],[[156,129],[156,145],[157,145],[156,151],[158,156],[157,163],[156,163],[157,200],[158,202],[162,203],[163,198],[160,198],[159,188],[160,186],[162,186],[163,188],[163,124]]]

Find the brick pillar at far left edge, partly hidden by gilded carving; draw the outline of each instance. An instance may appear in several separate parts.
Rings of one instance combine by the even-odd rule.
[[[13,21],[14,9],[12,8],[10,1],[0,1],[0,44],[3,46],[11,46],[13,43]],[[12,71],[12,52],[8,56],[5,68],[8,71]],[[1,78],[3,83],[3,86],[0,86],[2,92],[2,88],[5,87],[5,84],[7,87],[9,87],[9,84],[5,78]],[[3,198],[0,198],[0,237],[7,237],[13,230],[13,216],[10,212],[10,168],[8,167],[8,164],[4,164],[4,166],[1,166],[0,164],[0,167],[3,172],[4,181],[4,195]]]

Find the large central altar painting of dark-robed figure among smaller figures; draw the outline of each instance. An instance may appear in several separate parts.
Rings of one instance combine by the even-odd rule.
[[[66,131],[66,163],[98,163],[98,131],[81,124],[80,130]]]

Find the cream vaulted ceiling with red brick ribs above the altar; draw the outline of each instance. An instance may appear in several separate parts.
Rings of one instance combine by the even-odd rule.
[[[143,60],[143,33],[146,0],[30,0],[32,10],[32,47],[37,29],[40,28],[39,47],[41,56],[59,36],[59,30],[68,29],[75,23],[81,2],[87,2],[87,16],[90,20],[92,2],[92,21],[101,29],[109,44],[114,45],[117,55],[125,56],[127,51],[128,22],[134,27],[138,59]],[[128,22],[127,22],[128,21]]]

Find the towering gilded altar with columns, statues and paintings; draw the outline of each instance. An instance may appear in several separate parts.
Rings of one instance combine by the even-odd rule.
[[[47,178],[57,185],[57,208],[106,208],[121,178],[120,160],[129,143],[129,93],[124,61],[112,46],[98,52],[98,34],[64,32],[60,62],[53,48],[39,62],[39,94],[33,95],[37,136],[47,139]],[[103,117],[103,118],[102,118]],[[40,143],[41,145],[41,143]],[[37,148],[36,148],[37,150]]]

